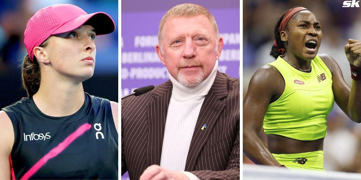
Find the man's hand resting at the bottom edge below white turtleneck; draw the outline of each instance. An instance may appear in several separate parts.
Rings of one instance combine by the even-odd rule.
[[[158,165],[147,167],[139,180],[189,180],[182,172],[166,170]]]

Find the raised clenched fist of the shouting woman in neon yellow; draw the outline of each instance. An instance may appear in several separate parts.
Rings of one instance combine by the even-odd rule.
[[[345,45],[345,54],[348,62],[356,67],[361,67],[361,42],[348,39]]]

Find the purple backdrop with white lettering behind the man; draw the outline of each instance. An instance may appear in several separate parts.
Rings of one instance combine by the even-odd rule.
[[[138,87],[158,85],[169,80],[168,71],[155,52],[158,26],[168,9],[183,2],[158,3],[161,7],[147,2],[153,1],[144,1],[145,4],[122,1],[121,96],[130,94]],[[217,6],[218,1],[209,0],[196,4],[209,8],[225,42],[218,59],[219,71],[239,78],[239,2],[223,2],[223,5]],[[128,178],[127,174],[122,176],[123,180]]]

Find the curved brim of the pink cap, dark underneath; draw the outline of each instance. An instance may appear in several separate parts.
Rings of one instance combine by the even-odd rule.
[[[91,25],[95,29],[96,35],[105,35],[112,33],[115,30],[115,23],[113,19],[106,13],[97,12],[87,15],[79,16],[68,21],[59,28],[57,28],[52,35],[75,30],[83,24]]]

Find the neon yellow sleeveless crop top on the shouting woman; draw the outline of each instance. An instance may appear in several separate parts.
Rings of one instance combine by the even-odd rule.
[[[334,105],[332,75],[326,64],[316,56],[310,73],[293,68],[280,57],[266,65],[278,69],[285,88],[280,98],[267,107],[265,133],[296,140],[324,138],[327,115]]]

